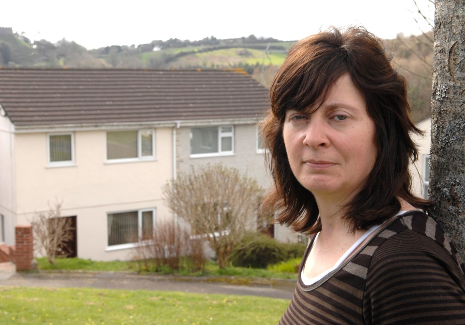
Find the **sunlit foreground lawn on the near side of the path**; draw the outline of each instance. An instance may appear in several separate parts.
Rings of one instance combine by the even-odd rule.
[[[108,289],[0,288],[0,324],[277,324],[285,299]]]

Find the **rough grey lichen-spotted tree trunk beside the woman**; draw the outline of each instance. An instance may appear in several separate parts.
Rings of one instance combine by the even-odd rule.
[[[429,195],[465,257],[465,0],[436,0]]]

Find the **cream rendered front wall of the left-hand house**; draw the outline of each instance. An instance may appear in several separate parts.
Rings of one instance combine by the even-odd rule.
[[[62,216],[77,216],[78,257],[126,260],[131,248],[108,246],[107,214],[155,209],[155,222],[172,218],[162,186],[172,178],[172,129],[155,129],[155,159],[106,160],[106,131],[75,131],[75,163],[47,165],[47,133],[16,133],[16,224],[62,202]]]

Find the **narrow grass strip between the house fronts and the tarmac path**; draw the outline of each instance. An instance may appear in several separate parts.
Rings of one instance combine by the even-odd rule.
[[[137,272],[135,262],[109,261],[100,262],[93,260],[55,259],[55,264],[48,263],[46,258],[37,258],[39,270],[62,270],[62,271],[95,271],[95,272]],[[179,276],[235,276],[240,278],[277,278],[297,279],[297,274],[279,269],[252,269],[247,267],[227,266],[220,269],[214,261],[208,261],[203,271],[189,272],[188,270],[172,271],[164,269],[158,274],[173,274]]]

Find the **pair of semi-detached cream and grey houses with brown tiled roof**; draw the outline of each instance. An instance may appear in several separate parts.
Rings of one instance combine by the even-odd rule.
[[[0,243],[59,201],[76,256],[130,258],[173,218],[162,186],[178,171],[223,162],[270,185],[256,129],[267,106],[233,70],[0,69]]]

